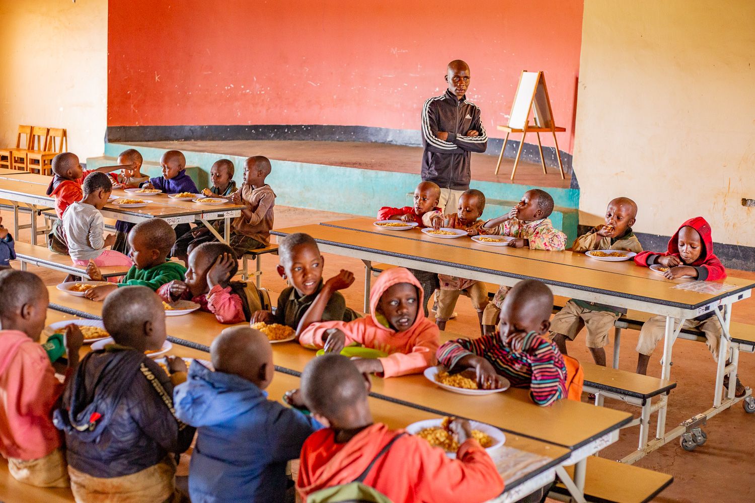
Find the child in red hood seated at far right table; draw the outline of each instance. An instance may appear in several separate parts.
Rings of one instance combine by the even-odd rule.
[[[716,281],[726,278],[726,269],[713,254],[710,224],[702,216],[695,216],[684,222],[668,241],[667,251],[664,253],[645,251],[637,254],[634,262],[643,267],[660,265],[667,269],[664,271],[664,276],[668,279],[689,277],[699,281]],[[723,330],[715,311],[684,321],[683,328],[701,330],[705,334],[713,360],[718,360],[718,344]],[[654,316],[643,325],[636,348],[639,353],[638,374],[647,374],[650,356],[658,342],[664,338],[665,333],[665,316]],[[729,376],[726,376],[724,388],[729,388]],[[739,382],[739,378],[737,378],[736,396],[744,396],[744,386]]]

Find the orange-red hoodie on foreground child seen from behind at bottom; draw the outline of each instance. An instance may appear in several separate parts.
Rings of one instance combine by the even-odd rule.
[[[336,443],[331,428],[316,431],[301,448],[297,490],[306,499],[319,489],[352,482],[399,433],[377,423],[347,443]],[[504,481],[477,440],[462,443],[456,456],[450,459],[426,440],[405,435],[377,460],[364,483],[395,503],[476,503],[503,492]]]

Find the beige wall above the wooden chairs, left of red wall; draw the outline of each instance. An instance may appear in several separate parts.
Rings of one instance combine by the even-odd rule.
[[[3,0],[0,20],[0,144],[18,124],[65,127],[82,161],[102,155],[107,0]]]

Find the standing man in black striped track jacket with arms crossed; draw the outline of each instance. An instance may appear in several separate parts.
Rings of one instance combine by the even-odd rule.
[[[485,152],[488,135],[479,108],[467,101],[470,67],[462,60],[448,63],[448,89],[422,107],[422,180],[440,187],[443,213],[457,210],[459,196],[470,188],[470,152]]]

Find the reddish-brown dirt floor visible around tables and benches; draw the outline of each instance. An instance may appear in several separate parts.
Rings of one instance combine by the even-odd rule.
[[[2,212],[6,225],[10,225],[12,215]],[[327,213],[314,210],[301,210],[291,207],[276,207],[276,228],[292,225],[306,225],[327,220],[347,218],[349,215]],[[22,233],[22,241],[28,241],[28,235]],[[271,291],[276,299],[285,286],[285,281],[276,273],[276,256],[263,256],[264,287]],[[362,308],[364,284],[364,265],[357,259],[340,256],[325,256],[325,278],[338,273],[341,268],[353,271],[356,282],[344,291],[348,305]],[[57,284],[63,275],[48,269],[30,267],[45,280],[46,284]],[[729,275],[742,278],[755,278],[755,273],[729,271]],[[478,333],[477,317],[469,299],[461,297],[457,307],[458,318],[448,322],[447,330],[455,333],[475,336]],[[735,304],[733,319],[735,321],[752,321],[755,315],[755,299],[747,299]],[[621,369],[633,371],[636,367],[637,332],[624,330],[621,339]],[[569,345],[569,354],[581,360],[590,360],[587,348],[581,343],[583,337]],[[606,348],[611,354],[612,348]],[[713,382],[715,367],[713,358],[704,344],[680,340],[673,350],[673,379],[678,386],[670,394],[670,407],[667,425],[673,427],[696,413],[707,409],[713,401]],[[661,354],[654,354],[649,367],[649,374],[660,376],[659,361]],[[741,354],[740,371],[745,385],[755,383],[755,355]],[[587,395],[584,400],[587,401]],[[606,400],[606,406],[627,410],[635,416],[639,409],[624,403]],[[655,415],[653,416],[655,419]],[[655,420],[652,422],[655,432]],[[753,443],[755,443],[755,415],[744,413],[741,406],[726,410],[711,419],[703,427],[707,433],[707,443],[694,452],[684,451],[678,441],[669,443],[645,459],[637,466],[664,473],[673,474],[674,483],[655,501],[755,501],[755,462],[753,462]],[[636,449],[637,428],[630,428],[621,433],[617,443],[603,450],[601,455],[608,459],[620,459]]]

